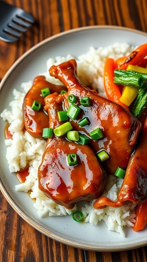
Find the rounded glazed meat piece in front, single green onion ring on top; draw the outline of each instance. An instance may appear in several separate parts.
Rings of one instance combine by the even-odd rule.
[[[45,98],[49,114],[49,127],[55,128],[57,111],[62,110],[64,95],[54,93]],[[69,166],[67,155],[75,153],[78,164]],[[100,166],[93,150],[69,141],[65,136],[49,138],[38,169],[39,189],[56,203],[72,208],[82,200],[93,200],[100,196],[108,182],[108,175]]]

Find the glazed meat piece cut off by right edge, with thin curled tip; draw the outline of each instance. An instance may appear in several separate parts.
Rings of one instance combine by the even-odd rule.
[[[141,140],[129,160],[125,178],[118,194],[118,201],[101,197],[94,203],[94,208],[105,206],[119,207],[126,203],[140,204],[147,200],[147,118]]]

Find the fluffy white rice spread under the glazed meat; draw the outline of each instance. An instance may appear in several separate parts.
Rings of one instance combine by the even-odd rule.
[[[103,67],[107,57],[118,58],[130,53],[134,47],[127,43],[115,43],[108,47],[99,47],[95,49],[91,47],[86,54],[79,56],[77,61],[78,77],[85,85],[92,85],[93,89],[97,89],[100,95],[105,96],[103,88]],[[46,77],[46,80],[59,84],[59,80],[49,75],[48,69],[53,64],[60,64],[74,58],[71,55],[67,57],[49,58],[47,60],[47,72],[41,73]],[[61,84],[61,83],[60,83]],[[20,168],[25,168],[29,165],[29,175],[24,183],[15,186],[16,190],[28,192],[32,190],[30,197],[35,198],[32,205],[37,209],[39,216],[64,216],[71,214],[72,210],[76,210],[76,205],[72,210],[64,208],[64,206],[56,204],[54,201],[47,198],[38,189],[38,167],[41,163],[42,154],[44,152],[46,141],[33,138],[27,131],[23,132],[24,121],[22,116],[22,103],[26,92],[31,88],[32,81],[22,83],[22,92],[14,89],[14,100],[10,102],[9,108],[4,109],[1,113],[3,121],[7,121],[9,131],[13,134],[13,139],[5,139],[7,146],[6,159],[8,161],[10,172],[17,172]],[[121,187],[122,179],[115,176],[110,176],[108,186],[104,192],[112,200],[117,200],[117,193]],[[95,210],[93,201],[83,204],[82,212],[85,222],[90,222],[97,225],[101,220],[104,220],[109,230],[117,231],[122,236],[125,236],[123,227],[132,227],[135,222],[135,205],[124,205],[121,208],[107,207],[105,209]]]

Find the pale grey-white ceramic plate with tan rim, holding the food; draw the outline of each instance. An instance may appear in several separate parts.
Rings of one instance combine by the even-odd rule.
[[[78,56],[86,53],[90,46],[108,46],[115,42],[127,42],[141,45],[147,42],[147,34],[116,26],[90,26],[78,28],[52,36],[32,47],[9,69],[0,84],[0,112],[8,108],[12,100],[12,90],[20,89],[20,84],[33,80],[40,72],[46,71],[49,57]],[[71,216],[40,218],[33,200],[24,192],[15,191],[18,180],[8,169],[4,145],[5,123],[0,119],[0,187],[5,198],[14,210],[38,231],[73,247],[95,251],[120,251],[141,247],[147,244],[147,228],[134,232],[125,228],[126,237],[109,231],[105,223],[97,226],[90,223],[78,223]]]

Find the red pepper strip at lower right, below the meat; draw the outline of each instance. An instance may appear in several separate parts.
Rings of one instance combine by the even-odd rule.
[[[146,223],[147,223],[147,201],[137,206],[136,222],[134,223],[133,230],[139,231],[144,229]]]

